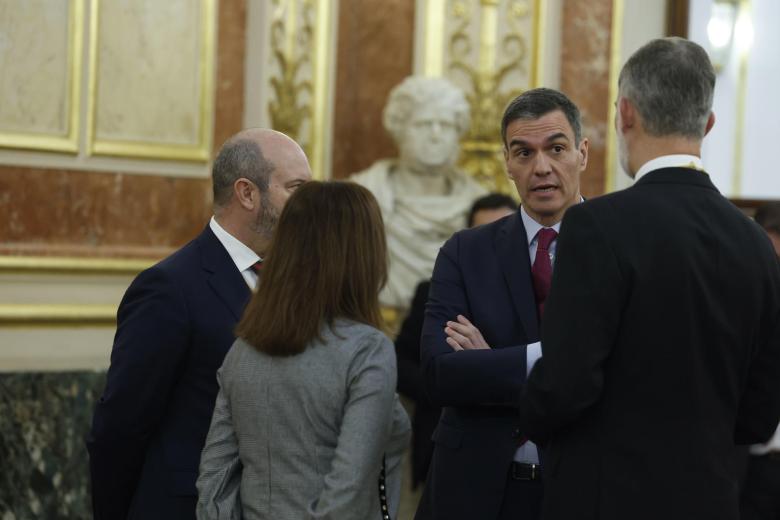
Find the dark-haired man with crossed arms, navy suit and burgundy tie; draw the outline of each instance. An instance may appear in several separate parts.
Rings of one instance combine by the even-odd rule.
[[[426,391],[443,406],[418,519],[536,519],[536,447],[514,407],[539,356],[539,322],[564,212],[582,200],[588,159],[577,107],[534,89],[501,123],[509,176],[523,204],[460,231],[439,252],[423,324]]]

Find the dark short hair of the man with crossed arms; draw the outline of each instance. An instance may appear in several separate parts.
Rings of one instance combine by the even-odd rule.
[[[560,110],[566,116],[574,132],[574,144],[579,146],[582,139],[580,109],[564,93],[551,88],[526,90],[509,103],[501,118],[501,140],[504,146],[507,145],[506,129],[513,121],[539,119],[555,110]]]

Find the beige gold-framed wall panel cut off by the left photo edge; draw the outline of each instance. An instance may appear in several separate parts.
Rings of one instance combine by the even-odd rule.
[[[0,132],[68,132],[68,2],[0,0]]]

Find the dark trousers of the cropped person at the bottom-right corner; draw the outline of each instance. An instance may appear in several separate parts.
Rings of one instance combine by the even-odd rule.
[[[742,520],[780,520],[780,453],[750,456],[740,513]]]

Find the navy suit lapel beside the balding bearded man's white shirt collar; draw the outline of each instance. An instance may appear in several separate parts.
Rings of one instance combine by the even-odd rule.
[[[236,320],[241,319],[251,292],[238,272],[236,264],[217,239],[211,228],[206,226],[198,237],[203,269],[208,273],[208,283],[220,300],[230,309]]]

